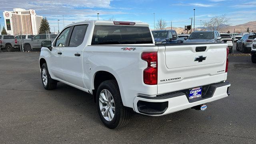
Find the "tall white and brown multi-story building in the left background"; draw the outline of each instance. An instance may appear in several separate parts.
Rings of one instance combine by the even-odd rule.
[[[42,16],[37,16],[35,10],[14,8],[13,11],[4,11],[6,32],[11,35],[38,34]]]

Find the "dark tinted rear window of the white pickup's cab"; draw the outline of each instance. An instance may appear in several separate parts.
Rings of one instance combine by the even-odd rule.
[[[96,25],[92,45],[107,44],[153,44],[148,27]]]

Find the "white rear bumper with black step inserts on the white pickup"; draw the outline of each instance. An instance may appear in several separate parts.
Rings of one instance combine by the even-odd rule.
[[[188,100],[188,96],[185,93],[186,90],[154,97],[137,96],[134,100],[134,110],[149,116],[162,116],[225,98],[229,95],[229,87],[230,82],[228,81],[210,84],[205,94],[203,92],[201,97],[190,100]]]

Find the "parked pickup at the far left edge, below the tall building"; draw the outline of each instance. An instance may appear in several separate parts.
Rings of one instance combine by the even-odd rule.
[[[8,52],[12,52],[14,49],[18,49],[16,46],[17,39],[12,35],[0,35],[0,50],[7,50]]]

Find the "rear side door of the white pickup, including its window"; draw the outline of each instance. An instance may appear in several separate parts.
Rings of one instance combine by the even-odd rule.
[[[83,86],[82,53],[85,48],[84,36],[88,24],[72,26],[67,46],[63,48],[62,65],[66,82]]]

